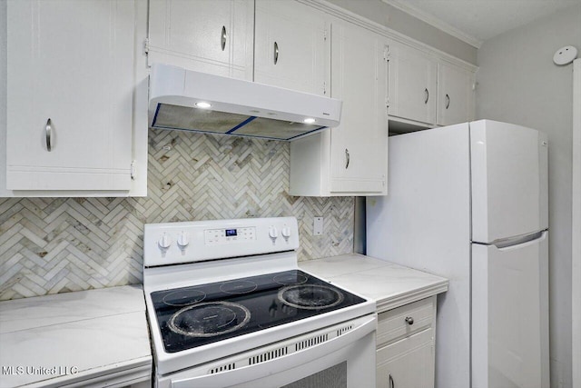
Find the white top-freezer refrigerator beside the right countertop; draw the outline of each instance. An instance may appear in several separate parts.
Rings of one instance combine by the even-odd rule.
[[[449,279],[438,388],[547,388],[547,135],[481,120],[389,138],[367,254]]]

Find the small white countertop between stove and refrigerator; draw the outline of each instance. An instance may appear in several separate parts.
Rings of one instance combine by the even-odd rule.
[[[299,267],[374,299],[378,313],[448,291],[448,279],[362,254],[300,262]]]

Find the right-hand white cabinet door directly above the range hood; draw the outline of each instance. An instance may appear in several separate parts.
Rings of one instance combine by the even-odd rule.
[[[254,81],[329,95],[327,16],[294,0],[256,0]]]

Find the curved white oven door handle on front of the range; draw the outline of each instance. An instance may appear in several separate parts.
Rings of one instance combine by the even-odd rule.
[[[320,343],[299,352],[275,358],[271,361],[255,363],[251,366],[245,366],[228,372],[206,374],[203,376],[175,380],[172,381],[172,388],[223,388],[231,386],[232,382],[236,382],[236,385],[249,383],[253,380],[281,373],[305,363],[314,362],[325,355],[339,351],[350,343],[356,343],[359,339],[365,337],[369,333],[375,332],[376,328],[377,315],[373,314],[370,315],[364,323],[361,323],[350,332],[335,337],[328,342]]]

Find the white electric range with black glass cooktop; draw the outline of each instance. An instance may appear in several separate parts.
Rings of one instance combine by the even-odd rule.
[[[298,247],[293,217],[146,224],[155,386],[375,387],[375,302]]]

